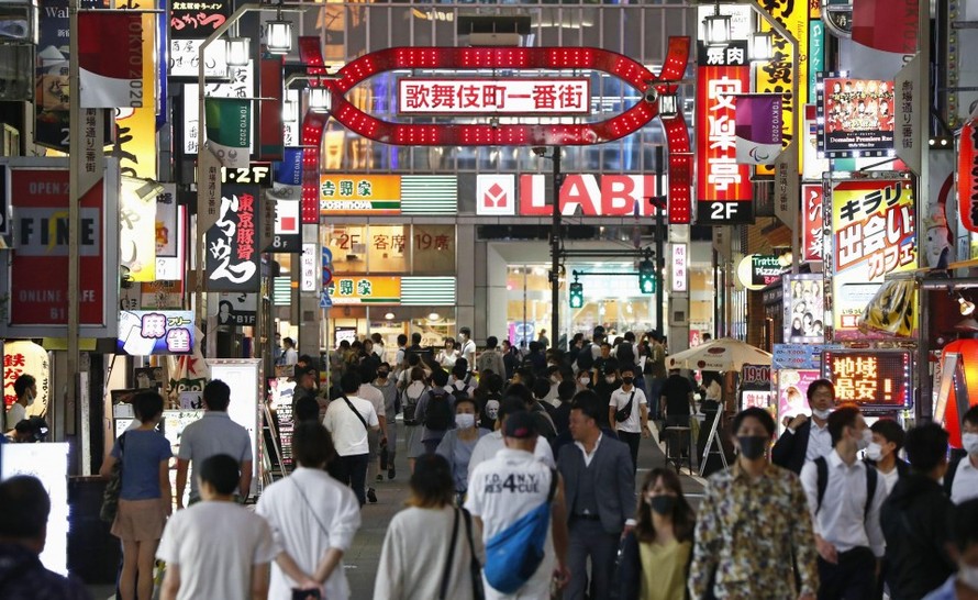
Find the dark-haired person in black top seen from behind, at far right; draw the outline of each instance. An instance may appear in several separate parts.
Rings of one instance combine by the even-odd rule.
[[[936,423],[914,427],[905,449],[910,473],[897,481],[879,514],[891,600],[920,600],[956,568],[947,554],[954,504],[938,484],[947,471],[947,432]]]

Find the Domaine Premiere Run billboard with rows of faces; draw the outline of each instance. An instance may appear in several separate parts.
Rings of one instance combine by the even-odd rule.
[[[819,151],[830,158],[882,156],[893,149],[893,82],[824,77]]]

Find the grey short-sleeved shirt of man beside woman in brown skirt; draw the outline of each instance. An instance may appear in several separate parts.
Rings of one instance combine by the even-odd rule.
[[[218,454],[226,454],[238,464],[252,460],[252,440],[248,430],[232,421],[226,412],[207,411],[184,430],[177,458],[190,460],[193,467]],[[196,477],[190,478],[190,496],[199,496]]]

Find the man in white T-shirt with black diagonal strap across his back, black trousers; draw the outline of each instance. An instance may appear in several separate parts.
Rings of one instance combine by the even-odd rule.
[[[323,425],[333,435],[333,445],[336,446],[333,477],[353,488],[363,507],[367,503],[367,462],[370,456],[367,433],[380,431],[380,421],[374,405],[356,396],[359,388],[358,373],[349,370],[343,374],[340,378],[343,396],[330,402]]]

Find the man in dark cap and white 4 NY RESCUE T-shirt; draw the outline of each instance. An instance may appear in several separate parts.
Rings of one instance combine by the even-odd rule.
[[[482,541],[487,543],[547,501],[552,502],[551,526],[544,542],[543,562],[526,582],[507,596],[486,580],[486,598],[548,598],[554,576],[562,585],[569,579],[564,485],[557,471],[537,460],[533,454],[538,436],[529,412],[510,414],[504,434],[505,449],[471,471],[465,508],[473,513],[482,531]],[[554,477],[558,479],[551,499]],[[512,481],[520,481],[520,485],[512,485]]]

